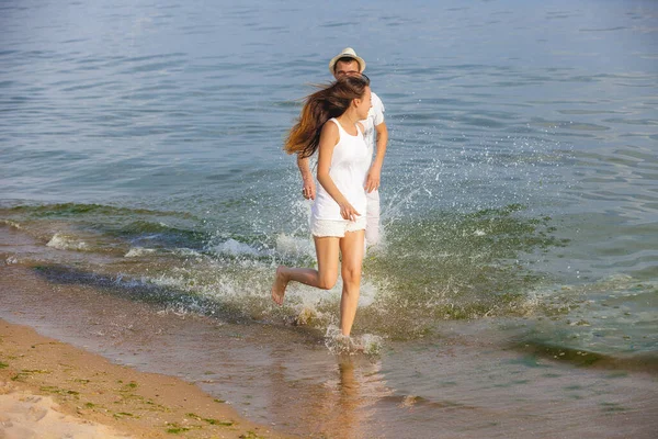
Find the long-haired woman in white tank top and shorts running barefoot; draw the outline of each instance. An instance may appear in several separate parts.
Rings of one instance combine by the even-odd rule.
[[[310,157],[318,151],[319,188],[311,210],[318,269],[280,266],[272,300],[281,305],[290,281],[330,290],[338,279],[339,251],[343,280],[340,329],[349,336],[356,314],[365,233],[365,178],[370,166],[363,125],[371,104],[370,80],[344,77],[306,98],[302,115],[284,149]]]

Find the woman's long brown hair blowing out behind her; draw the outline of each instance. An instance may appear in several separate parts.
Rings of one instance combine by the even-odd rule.
[[[347,76],[329,87],[306,97],[302,114],[285,140],[287,154],[310,157],[318,149],[322,125],[331,117],[339,117],[352,103],[361,99],[370,79],[365,75]]]

